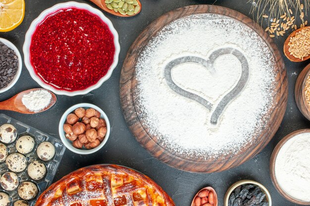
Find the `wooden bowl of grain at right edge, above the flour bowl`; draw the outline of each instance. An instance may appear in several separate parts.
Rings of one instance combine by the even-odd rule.
[[[310,64],[302,70],[297,78],[295,101],[300,112],[310,120]]]

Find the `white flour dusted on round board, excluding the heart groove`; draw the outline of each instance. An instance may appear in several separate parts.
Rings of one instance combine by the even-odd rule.
[[[225,107],[216,125],[212,110],[174,92],[164,68],[183,56],[208,55],[219,48],[239,50],[249,64],[249,78],[241,93]],[[214,70],[184,63],[171,70],[173,82],[197,94],[215,108],[238,82],[241,62],[232,54],[219,56]],[[229,17],[197,14],[165,26],[141,51],[136,64],[135,99],[139,118],[158,143],[176,155],[209,160],[239,154],[268,121],[272,105],[275,62],[266,43],[253,30]],[[212,108],[212,109],[213,109]]]

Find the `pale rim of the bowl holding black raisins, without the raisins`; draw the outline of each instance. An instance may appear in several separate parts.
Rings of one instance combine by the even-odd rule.
[[[224,206],[228,206],[228,200],[229,197],[231,195],[231,193],[240,185],[245,185],[245,184],[254,184],[257,185],[263,193],[265,193],[266,195],[266,200],[268,201],[268,206],[272,206],[272,200],[271,200],[271,195],[269,193],[269,191],[267,190],[267,188],[265,186],[263,186],[262,184],[260,184],[259,182],[256,182],[254,180],[250,180],[250,179],[244,179],[244,180],[240,180],[236,183],[234,183],[233,185],[231,185],[228,190],[225,193],[224,196]]]

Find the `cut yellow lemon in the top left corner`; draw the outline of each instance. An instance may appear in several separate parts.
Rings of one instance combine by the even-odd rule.
[[[24,0],[0,0],[0,32],[15,29],[21,24],[24,16]]]

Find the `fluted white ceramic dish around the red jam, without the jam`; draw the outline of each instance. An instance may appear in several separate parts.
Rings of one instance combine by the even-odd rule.
[[[31,38],[33,33],[36,30],[36,27],[39,23],[41,23],[44,18],[53,13],[54,11],[61,9],[61,8],[67,8],[67,7],[75,7],[75,8],[83,8],[83,9],[87,9],[90,12],[96,14],[97,16],[99,16],[103,22],[105,22],[110,31],[112,32],[113,36],[114,36],[114,45],[115,45],[115,54],[114,54],[114,61],[112,63],[112,65],[110,66],[110,69],[108,70],[108,72],[95,84],[92,85],[86,89],[83,90],[78,90],[78,91],[66,91],[66,90],[58,90],[55,89],[54,87],[52,87],[50,84],[48,84],[47,82],[42,81],[34,72],[34,68],[32,67],[31,63],[30,63],[30,44],[31,44]],[[26,36],[25,36],[25,42],[24,42],[24,46],[23,46],[23,52],[24,52],[24,60],[25,60],[25,65],[30,73],[30,76],[32,77],[32,79],[34,79],[36,82],[38,82],[40,84],[40,86],[42,86],[43,88],[49,89],[52,92],[54,92],[55,94],[62,94],[62,95],[67,95],[67,96],[75,96],[75,95],[82,95],[82,94],[87,94],[88,92],[99,88],[103,82],[105,82],[106,80],[108,80],[110,78],[110,76],[112,75],[113,70],[115,69],[117,63],[118,63],[118,55],[119,55],[119,51],[120,51],[120,46],[119,46],[119,42],[118,42],[118,34],[116,32],[116,30],[114,29],[112,22],[106,18],[103,13],[98,10],[97,8],[94,8],[92,6],[90,6],[89,4],[86,3],[79,3],[79,2],[75,2],[75,1],[68,1],[65,3],[58,3],[55,4],[54,6],[52,6],[51,8],[48,8],[46,10],[44,10],[39,16],[38,18],[36,18],[35,20],[33,20],[33,22],[31,23]]]

